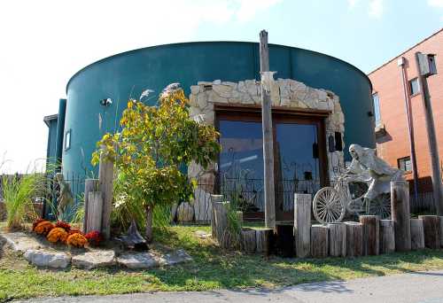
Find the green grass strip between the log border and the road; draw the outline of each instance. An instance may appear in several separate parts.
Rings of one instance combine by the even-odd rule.
[[[0,302],[41,296],[115,294],[137,291],[205,291],[218,288],[286,285],[385,276],[443,268],[443,250],[393,253],[357,259],[296,260],[221,252],[192,233],[207,227],[155,230],[159,246],[184,248],[194,262],[172,268],[131,271],[124,268],[64,271],[37,269],[0,250]]]

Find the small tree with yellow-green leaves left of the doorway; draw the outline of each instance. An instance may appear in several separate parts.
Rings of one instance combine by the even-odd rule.
[[[156,106],[130,99],[120,120],[121,131],[105,134],[92,156],[97,165],[100,152],[105,152],[122,176],[125,203],[144,207],[148,242],[152,242],[153,208],[193,196],[197,182],[183,168],[192,161],[207,167],[221,151],[219,133],[192,120],[188,105],[183,89],[176,85],[163,91]]]

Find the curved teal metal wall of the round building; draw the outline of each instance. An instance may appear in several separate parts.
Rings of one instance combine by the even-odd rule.
[[[277,77],[337,93],[346,115],[346,143],[375,147],[374,120],[368,116],[371,86],[365,74],[313,51],[269,44],[269,56],[270,69],[278,72]],[[66,89],[65,131],[71,129],[71,148],[63,153],[64,169],[92,169],[90,154],[97,140],[105,131],[113,131],[128,97],[139,97],[144,89],[154,89],[158,95],[170,82],[180,82],[189,94],[190,85],[198,81],[259,79],[259,72],[258,43],[168,44],[128,51],[87,66]],[[113,105],[99,104],[106,97],[113,99]]]

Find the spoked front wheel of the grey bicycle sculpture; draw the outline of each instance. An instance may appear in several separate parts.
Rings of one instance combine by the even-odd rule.
[[[342,221],[346,213],[338,191],[332,187],[317,191],[312,208],[315,219],[323,224]]]

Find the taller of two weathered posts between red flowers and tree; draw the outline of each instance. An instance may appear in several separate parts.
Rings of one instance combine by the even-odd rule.
[[[103,197],[102,234],[105,240],[111,237],[111,211],[113,210],[113,162],[100,154],[98,167],[98,190]]]

